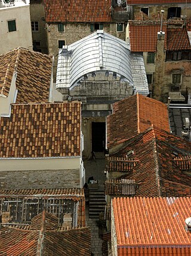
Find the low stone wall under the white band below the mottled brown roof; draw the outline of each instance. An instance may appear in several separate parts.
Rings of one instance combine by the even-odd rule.
[[[79,170],[0,171],[0,188],[80,188]]]

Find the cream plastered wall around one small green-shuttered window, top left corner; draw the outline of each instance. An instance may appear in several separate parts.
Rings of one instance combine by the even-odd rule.
[[[0,8],[0,54],[19,46],[32,50],[29,4]],[[16,19],[17,31],[8,32],[8,20]]]

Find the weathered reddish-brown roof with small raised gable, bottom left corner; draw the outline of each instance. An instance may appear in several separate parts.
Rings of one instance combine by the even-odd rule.
[[[56,217],[44,211],[32,219],[29,230],[3,227],[1,255],[91,255],[90,228],[60,230],[56,222]]]

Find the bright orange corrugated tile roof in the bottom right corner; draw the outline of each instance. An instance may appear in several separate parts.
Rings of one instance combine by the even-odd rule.
[[[190,197],[112,199],[118,255],[190,255]]]

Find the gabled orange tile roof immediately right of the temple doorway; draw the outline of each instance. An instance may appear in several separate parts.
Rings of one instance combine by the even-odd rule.
[[[127,140],[151,127],[170,131],[167,106],[160,101],[136,94],[113,104],[107,116],[107,147]]]

